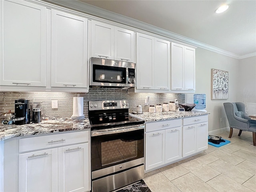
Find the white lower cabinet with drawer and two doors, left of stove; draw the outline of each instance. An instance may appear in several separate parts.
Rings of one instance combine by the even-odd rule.
[[[85,131],[88,132],[88,131]],[[48,148],[19,155],[19,191],[22,192],[86,192],[90,191],[90,150],[88,133],[72,132],[53,135],[61,140],[52,140],[53,136],[40,136],[42,143],[48,143]],[[70,144],[78,133],[84,135],[82,144]],[[86,138],[87,136],[87,138]],[[33,145],[34,138],[20,139],[23,146]],[[23,141],[22,141],[23,140]],[[50,141],[50,142],[49,142]],[[68,146],[65,146],[65,142]],[[59,147],[56,145],[59,144]],[[34,142],[42,146],[40,142]],[[20,150],[24,150],[24,147]],[[28,148],[29,149],[29,148]]]

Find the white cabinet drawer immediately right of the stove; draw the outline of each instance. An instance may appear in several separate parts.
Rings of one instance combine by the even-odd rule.
[[[182,126],[182,119],[146,123],[146,132]]]

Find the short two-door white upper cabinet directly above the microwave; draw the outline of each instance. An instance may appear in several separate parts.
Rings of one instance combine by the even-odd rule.
[[[133,31],[92,21],[92,57],[134,62],[134,50]]]

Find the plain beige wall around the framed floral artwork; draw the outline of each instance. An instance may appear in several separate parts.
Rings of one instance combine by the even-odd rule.
[[[212,68],[229,72],[227,100],[211,100]],[[209,132],[229,126],[223,103],[236,102],[239,74],[239,60],[203,48],[196,49],[196,94],[206,94],[206,110],[211,113],[208,116]],[[223,118],[222,122],[220,118]]]

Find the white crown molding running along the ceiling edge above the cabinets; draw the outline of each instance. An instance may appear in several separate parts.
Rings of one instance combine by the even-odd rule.
[[[217,47],[214,47],[214,46],[211,46],[208,44],[204,44],[202,42],[199,42],[199,41],[193,40],[191,38],[170,32],[168,30],[164,30],[162,28],[158,28],[156,26],[141,22],[139,20],[129,18],[127,16],[123,16],[123,15],[120,15],[120,14],[117,14],[114,12],[110,12],[108,10],[98,8],[96,6],[92,6],[92,5],[86,4],[84,2],[80,2],[79,0],[64,0],[64,1],[63,0],[41,0],[41,1],[50,2],[52,4],[56,4],[59,6],[64,6],[66,8],[76,10],[78,12],[82,12],[82,13],[88,14],[90,16],[96,16],[96,17],[99,17],[99,18],[102,18],[105,20],[117,22],[119,24],[130,26],[130,27],[138,29],[138,30],[144,30],[146,32],[151,32],[153,34],[164,36],[171,40],[175,40],[175,41],[183,42],[185,44],[189,44],[192,46],[204,48],[206,50],[210,50],[212,52],[226,55],[226,56],[229,56],[229,57],[232,57],[235,59],[243,59],[243,58],[256,56],[256,52],[242,55],[242,56],[238,55],[238,54],[234,54],[232,52],[228,52],[228,51],[222,50],[220,48],[217,48]]]

